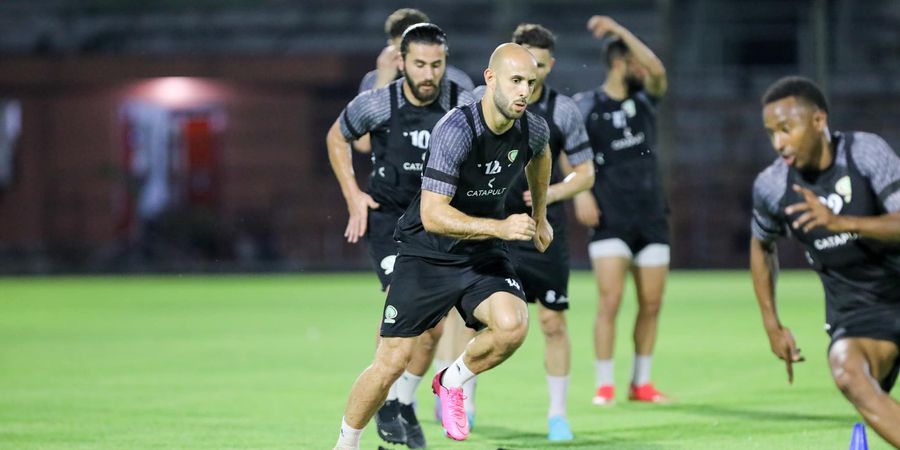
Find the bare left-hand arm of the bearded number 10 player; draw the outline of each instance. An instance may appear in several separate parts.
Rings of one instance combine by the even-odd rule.
[[[369,208],[375,209],[379,205],[369,194],[359,188],[356,176],[353,173],[353,158],[350,154],[350,141],[341,133],[340,119],[335,120],[328,130],[325,145],[328,147],[328,161],[338,183],[341,185],[341,194],[347,202],[347,212],[350,215],[347,228],[344,229],[344,237],[347,242],[355,243],[366,234]]]

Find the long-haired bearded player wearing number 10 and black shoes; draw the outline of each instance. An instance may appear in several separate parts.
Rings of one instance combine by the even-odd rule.
[[[394,228],[422,183],[422,166],[431,129],[457,103],[474,98],[444,76],[447,40],[433,24],[407,29],[400,44],[404,77],[358,95],[328,132],[331,167],[350,213],[344,235],[349,242],[365,237],[369,257],[388,290],[397,257]],[[371,133],[373,169],[362,191],[353,175],[348,143]],[[426,333],[410,366],[379,411],[378,434],[388,442],[424,448],[425,438],[413,412],[415,390],[434,355],[439,330]]]

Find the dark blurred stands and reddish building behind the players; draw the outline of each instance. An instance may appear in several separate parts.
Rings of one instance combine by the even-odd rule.
[[[590,15],[646,41],[669,75],[658,147],[677,268],[746,265],[751,185],[775,156],[759,96],[780,76],[819,81],[833,129],[900,146],[894,0],[148,3],[0,2],[0,99],[21,111],[0,158],[11,171],[0,180],[0,273],[368,268],[365,247],[342,238],[324,139],[374,67],[385,18],[405,6],[444,28],[449,62],[476,84],[520,22],[557,34],[548,83],[568,94],[604,77]],[[133,104],[171,126],[168,200],[148,217]],[[367,159],[356,163],[363,179]],[[571,227],[576,266],[586,235]],[[783,262],[804,264],[793,246]]]

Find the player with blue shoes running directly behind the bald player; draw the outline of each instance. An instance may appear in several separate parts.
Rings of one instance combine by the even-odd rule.
[[[566,417],[571,345],[564,314],[569,308],[569,244],[562,201],[593,185],[594,153],[578,106],[571,98],[544,84],[556,61],[553,58],[556,37],[541,25],[521,24],[513,32],[512,41],[527,48],[537,61],[537,82],[528,98],[528,110],[543,117],[550,127],[553,166],[547,189],[547,220],[553,226],[554,239],[545,252],[539,252],[526,241],[510,242],[509,248],[516,274],[522,281],[525,300],[538,304],[544,333],[544,367],[550,393],[547,438],[569,441],[573,438]],[[476,88],[475,96],[478,97],[482,90],[482,87]],[[565,167],[570,175],[564,177],[560,167]],[[526,180],[520,178],[506,197],[506,211],[518,214],[530,209],[531,192]]]

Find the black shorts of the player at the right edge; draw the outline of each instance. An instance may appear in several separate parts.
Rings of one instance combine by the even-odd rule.
[[[890,341],[900,347],[900,312],[896,309],[865,308],[843,315],[836,320],[828,334],[831,343],[828,350],[835,342],[844,338],[869,338],[880,341]],[[881,389],[890,392],[897,382],[900,373],[900,358],[894,360],[890,372],[883,380],[879,380]]]

